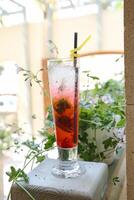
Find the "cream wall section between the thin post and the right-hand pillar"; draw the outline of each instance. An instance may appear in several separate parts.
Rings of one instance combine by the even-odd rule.
[[[102,41],[105,50],[124,49],[123,10],[103,13]]]

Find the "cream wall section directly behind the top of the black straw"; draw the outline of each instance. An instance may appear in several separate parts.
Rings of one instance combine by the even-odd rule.
[[[78,44],[81,44],[88,35],[92,35],[92,39],[82,51],[96,50],[97,48],[95,15],[63,20],[56,19],[53,30],[53,40],[59,49],[61,57],[68,56],[70,50],[73,48],[74,32],[78,32]]]

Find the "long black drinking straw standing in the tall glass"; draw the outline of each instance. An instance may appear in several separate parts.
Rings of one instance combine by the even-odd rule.
[[[74,33],[74,49],[77,48],[78,33]],[[74,52],[77,54],[77,51]],[[75,70],[75,88],[74,88],[74,143],[77,143],[78,138],[78,67],[77,56],[74,56],[74,70]]]

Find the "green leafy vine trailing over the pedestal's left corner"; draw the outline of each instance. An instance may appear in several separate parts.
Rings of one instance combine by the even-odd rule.
[[[30,165],[32,169],[34,164],[40,163],[45,159],[46,152],[54,146],[55,139],[54,136],[49,135],[44,137],[40,142],[37,141],[37,138],[27,139],[24,142],[19,142],[15,140],[14,146],[16,153],[18,153],[20,148],[23,150],[26,148],[24,166],[19,169],[11,166],[10,171],[6,172],[7,176],[9,177],[9,181],[12,182],[12,185],[14,183],[17,184],[33,200],[35,200],[35,198],[24,188],[22,184],[23,182],[29,182],[29,178],[25,170]],[[9,191],[7,200],[10,199],[10,195],[11,190]]]

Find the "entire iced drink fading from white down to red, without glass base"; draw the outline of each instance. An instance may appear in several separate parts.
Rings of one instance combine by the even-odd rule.
[[[56,142],[60,148],[73,148],[78,144],[79,88],[76,75],[73,61],[51,62],[49,83]]]

